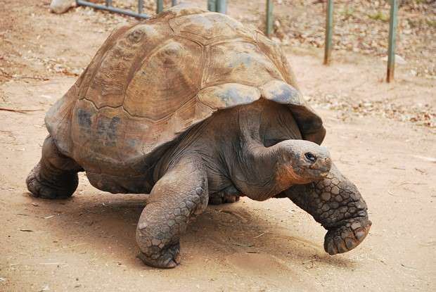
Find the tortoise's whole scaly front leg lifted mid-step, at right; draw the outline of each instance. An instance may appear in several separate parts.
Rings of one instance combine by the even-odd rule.
[[[327,229],[324,249],[331,255],[358,246],[371,227],[364,199],[335,165],[325,179],[292,186],[278,197],[284,196]]]

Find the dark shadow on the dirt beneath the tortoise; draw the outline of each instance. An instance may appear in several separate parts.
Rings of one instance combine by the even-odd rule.
[[[51,224],[51,231],[58,239],[79,239],[78,244],[96,253],[106,252],[115,261],[122,260],[129,266],[143,269],[143,264],[136,259],[139,248],[135,233],[145,200],[146,195],[100,193],[73,196],[64,201],[38,202],[60,214]],[[196,256],[226,258],[235,254],[260,253],[298,265],[313,266],[317,262],[319,265],[350,269],[357,265],[342,256],[331,257],[316,243],[294,235],[296,231],[283,231],[285,227],[277,228],[254,210],[243,207],[241,203],[209,206],[191,222],[181,239],[184,262],[188,260],[189,263],[192,260],[188,258]],[[278,241],[280,248],[277,248]]]

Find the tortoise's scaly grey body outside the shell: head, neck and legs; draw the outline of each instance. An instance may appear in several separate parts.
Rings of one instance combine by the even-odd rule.
[[[139,258],[146,265],[176,267],[188,222],[208,201],[236,201],[241,193],[256,201],[275,196],[293,200],[328,229],[325,247],[331,254],[354,248],[368,233],[371,222],[359,191],[331,167],[326,148],[302,140],[286,106],[263,100],[220,110],[175,142],[155,157],[152,168],[135,160],[138,165],[119,172],[127,185],[129,177],[143,175],[143,189],[132,182],[136,193],[148,193],[153,186],[136,229]],[[72,195],[83,169],[65,155],[51,137],[46,139],[42,158],[27,178],[33,196]],[[117,179],[104,178],[105,190],[124,190]]]

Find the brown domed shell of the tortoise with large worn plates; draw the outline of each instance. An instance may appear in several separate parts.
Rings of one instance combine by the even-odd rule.
[[[288,105],[302,137],[321,143],[321,118],[274,42],[227,15],[179,5],[115,30],[46,125],[61,152],[115,173],[214,111],[261,98]]]

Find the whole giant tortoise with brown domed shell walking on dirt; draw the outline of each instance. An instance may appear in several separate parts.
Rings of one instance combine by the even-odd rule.
[[[239,196],[290,198],[328,230],[331,255],[371,226],[281,49],[227,15],[181,5],[115,30],[45,122],[32,195],[68,198],[83,171],[103,191],[150,193],[136,241],[153,267],[179,263],[208,203]]]

